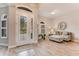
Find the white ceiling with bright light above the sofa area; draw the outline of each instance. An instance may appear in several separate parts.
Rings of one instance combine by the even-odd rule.
[[[70,12],[78,11],[79,3],[41,3],[39,4],[40,16],[56,18]],[[54,14],[51,14],[53,12]]]

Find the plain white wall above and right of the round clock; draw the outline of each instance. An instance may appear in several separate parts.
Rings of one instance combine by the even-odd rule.
[[[54,27],[57,27],[58,23],[64,21],[67,23],[66,31],[73,32],[76,39],[79,39],[79,11],[74,11],[65,16],[56,18],[54,20]]]

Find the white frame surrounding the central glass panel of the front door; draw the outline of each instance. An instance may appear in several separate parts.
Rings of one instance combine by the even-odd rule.
[[[20,25],[20,24],[18,25],[18,23],[19,23],[18,17],[19,16],[26,16],[27,17],[27,40],[24,40],[24,41],[18,41],[20,39],[20,37],[19,37],[20,34],[19,34],[19,29],[18,29],[18,27]],[[32,18],[32,15],[30,15],[28,12],[26,12],[26,13],[20,13],[20,12],[16,13],[16,43],[19,43],[20,45],[23,45],[23,44],[29,44],[33,41],[33,39],[30,38],[30,33],[31,33],[30,19],[31,18]]]

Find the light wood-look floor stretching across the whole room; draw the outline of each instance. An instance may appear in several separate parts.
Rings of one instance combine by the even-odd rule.
[[[25,45],[8,50],[0,47],[0,55],[6,56],[79,56],[78,42],[56,43],[40,40],[38,44]]]

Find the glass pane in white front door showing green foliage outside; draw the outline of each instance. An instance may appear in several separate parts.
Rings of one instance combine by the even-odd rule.
[[[20,16],[20,34],[27,33],[27,18]]]

